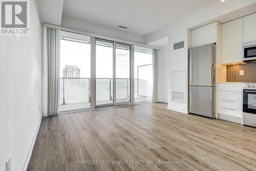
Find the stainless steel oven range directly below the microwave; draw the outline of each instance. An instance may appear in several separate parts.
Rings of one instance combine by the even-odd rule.
[[[243,124],[256,127],[256,83],[244,84]]]

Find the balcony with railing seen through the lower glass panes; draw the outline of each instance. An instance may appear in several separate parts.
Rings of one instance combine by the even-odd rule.
[[[135,102],[151,101],[150,95],[140,95],[143,80],[134,79]],[[91,108],[91,78],[60,78],[59,112]],[[96,78],[97,105],[113,103],[113,79]],[[116,102],[130,101],[130,79],[116,78]]]

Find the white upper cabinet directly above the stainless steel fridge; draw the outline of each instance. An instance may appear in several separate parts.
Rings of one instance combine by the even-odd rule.
[[[216,42],[217,22],[191,31],[191,47],[207,45]]]

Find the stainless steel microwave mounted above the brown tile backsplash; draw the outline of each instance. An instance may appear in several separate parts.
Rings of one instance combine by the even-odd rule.
[[[244,62],[256,62],[256,41],[244,44],[243,54]]]

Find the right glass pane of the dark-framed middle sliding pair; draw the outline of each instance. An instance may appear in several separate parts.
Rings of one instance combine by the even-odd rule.
[[[131,101],[130,46],[115,44],[115,99],[116,103]]]

